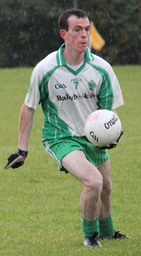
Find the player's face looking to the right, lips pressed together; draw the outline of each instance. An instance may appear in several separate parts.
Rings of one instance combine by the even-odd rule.
[[[68,19],[69,29],[66,32],[65,43],[77,52],[86,51],[88,44],[90,22],[87,17],[78,18],[75,15]]]

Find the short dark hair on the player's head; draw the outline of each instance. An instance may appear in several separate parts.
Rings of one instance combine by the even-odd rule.
[[[86,15],[86,12],[84,12],[83,10],[76,9],[76,8],[69,9],[65,11],[64,14],[61,15],[58,20],[59,30],[65,29],[66,31],[68,31],[69,29],[68,19],[70,18],[71,15],[75,15],[78,18],[84,18],[84,17],[88,18],[88,16]]]

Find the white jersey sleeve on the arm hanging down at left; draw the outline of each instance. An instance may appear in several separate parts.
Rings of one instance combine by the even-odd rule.
[[[34,108],[35,110],[37,110],[40,103],[40,80],[39,69],[35,67],[31,75],[29,90],[24,101],[29,108]]]

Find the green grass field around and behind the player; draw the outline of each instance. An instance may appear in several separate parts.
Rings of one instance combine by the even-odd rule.
[[[24,166],[5,170],[17,150],[18,119],[32,68],[0,70],[0,256],[141,255],[141,66],[113,67],[124,106],[117,109],[124,135],[109,151],[112,217],[116,230],[130,240],[83,246],[79,198],[82,187],[59,172],[41,143],[41,106],[34,115],[29,154]]]

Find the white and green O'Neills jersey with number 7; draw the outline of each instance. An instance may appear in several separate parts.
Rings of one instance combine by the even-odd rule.
[[[62,56],[63,44],[34,68],[25,104],[44,112],[43,140],[82,137],[87,116],[97,109],[123,105],[112,67],[87,48],[85,62],[74,71]]]

